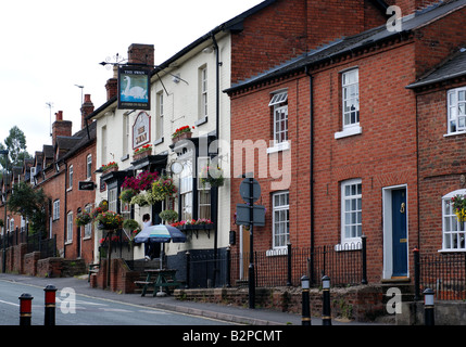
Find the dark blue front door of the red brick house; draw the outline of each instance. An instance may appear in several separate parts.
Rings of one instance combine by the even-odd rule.
[[[392,191],[393,277],[407,275],[406,190]]]

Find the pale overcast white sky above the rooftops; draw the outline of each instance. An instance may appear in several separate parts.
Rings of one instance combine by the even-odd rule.
[[[80,129],[81,89],[96,108],[112,69],[99,65],[131,43],[163,63],[217,25],[263,0],[5,1],[0,14],[0,142],[17,126],[34,156],[51,144],[54,113]],[[52,107],[48,106],[52,104]]]

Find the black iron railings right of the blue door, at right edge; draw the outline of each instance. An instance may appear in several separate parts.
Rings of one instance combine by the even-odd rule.
[[[431,288],[439,300],[466,299],[466,253],[414,253],[415,296]]]

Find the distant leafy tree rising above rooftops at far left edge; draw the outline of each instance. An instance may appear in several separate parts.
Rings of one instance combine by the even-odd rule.
[[[26,158],[30,158],[29,153],[26,151],[26,137],[24,132],[14,126],[10,129],[10,134],[4,139],[4,144],[0,143],[0,150],[8,150],[7,168],[11,170],[13,166],[23,166]],[[4,155],[0,156],[0,164],[5,167]]]

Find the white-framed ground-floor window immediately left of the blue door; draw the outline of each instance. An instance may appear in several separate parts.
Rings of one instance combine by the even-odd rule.
[[[348,191],[347,188],[350,190]],[[358,189],[360,188],[360,189]],[[355,189],[355,191],[354,191]],[[341,244],[361,242],[363,233],[363,184],[361,179],[341,182]]]

